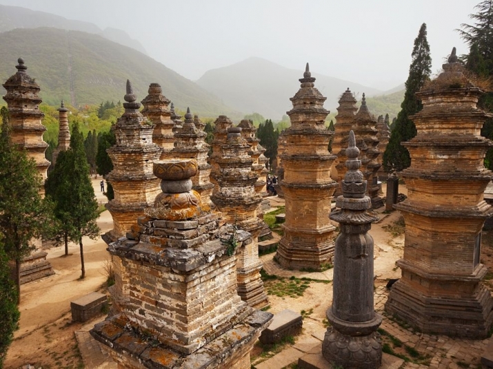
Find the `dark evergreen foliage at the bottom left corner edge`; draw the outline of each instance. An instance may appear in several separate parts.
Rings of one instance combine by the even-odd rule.
[[[19,328],[17,322],[21,315],[17,308],[17,288],[10,278],[8,257],[3,248],[0,240],[0,368],[3,368],[14,331]]]

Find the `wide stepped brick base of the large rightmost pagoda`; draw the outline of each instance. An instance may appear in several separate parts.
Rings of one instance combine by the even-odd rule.
[[[403,268],[403,278],[392,286],[385,311],[423,333],[483,339],[492,326],[493,299],[481,284],[484,267],[477,269],[470,277],[447,277],[418,275]]]

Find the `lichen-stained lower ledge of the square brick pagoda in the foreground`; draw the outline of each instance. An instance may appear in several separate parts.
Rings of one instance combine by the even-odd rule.
[[[253,345],[271,320],[272,314],[256,310],[240,324],[189,355],[159,344],[132,328],[123,314],[97,324],[90,334],[105,345],[118,368],[249,369]]]

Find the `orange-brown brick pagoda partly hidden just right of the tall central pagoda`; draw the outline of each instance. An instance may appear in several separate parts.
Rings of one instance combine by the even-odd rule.
[[[339,98],[334,140],[332,140],[332,153],[337,156],[334,161],[334,167],[337,171],[337,189],[334,193],[335,196],[342,195],[341,183],[344,179],[345,172],[348,170],[345,167],[345,149],[348,147],[349,132],[353,129],[354,116],[357,111],[356,98],[354,98],[354,94],[348,87],[341,98]]]

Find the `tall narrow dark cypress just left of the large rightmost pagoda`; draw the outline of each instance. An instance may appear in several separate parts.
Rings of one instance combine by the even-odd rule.
[[[416,114],[421,109],[421,101],[416,98],[416,92],[427,80],[430,79],[432,58],[430,56],[430,45],[426,39],[426,23],[421,25],[419,34],[414,40],[412,49],[412,62],[409,68],[408,80],[405,81],[404,101],[401,104],[401,112],[397,114],[395,123],[392,125],[387,149],[383,153],[383,168],[386,172],[402,171],[411,164],[408,149],[401,145],[416,136],[416,126],[410,116]]]

